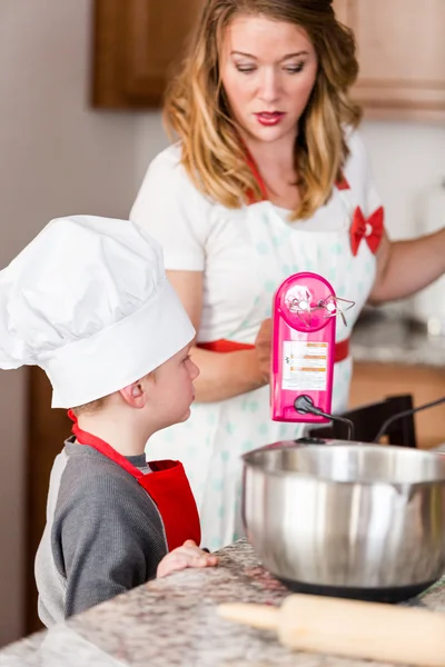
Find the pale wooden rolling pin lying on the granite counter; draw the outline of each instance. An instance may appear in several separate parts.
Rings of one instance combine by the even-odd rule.
[[[277,630],[294,650],[423,667],[445,667],[445,614],[313,595],[290,595],[280,608],[220,605],[222,618]]]

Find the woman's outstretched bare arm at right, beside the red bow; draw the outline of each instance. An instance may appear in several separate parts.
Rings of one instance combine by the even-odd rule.
[[[445,272],[445,229],[408,241],[384,235],[377,253],[372,303],[411,297]]]

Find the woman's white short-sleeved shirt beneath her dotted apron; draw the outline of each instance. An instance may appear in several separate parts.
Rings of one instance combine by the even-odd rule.
[[[335,188],[324,207],[308,220],[289,222],[290,229],[338,231],[345,225],[345,216],[349,223],[357,203],[366,216],[379,206],[357,132],[349,132],[348,146],[350,155],[344,176],[350,191],[345,195]],[[241,341],[246,336],[255,339],[259,323],[255,318],[250,334],[243,338],[236,335],[257,298],[256,275],[266,260],[267,248],[261,247],[261,238],[256,238],[255,230],[246,223],[255,206],[228,209],[199,192],[180,163],[180,145],[164,150],[148,168],[130,219],[160,242],[167,270],[204,271],[198,341]],[[280,218],[287,218],[285,209],[273,208]]]

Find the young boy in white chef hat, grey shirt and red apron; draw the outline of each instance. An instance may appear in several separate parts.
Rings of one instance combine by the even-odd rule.
[[[128,221],[53,220],[0,272],[0,368],[40,366],[52,407],[75,422],[36,558],[47,626],[156,576],[216,564],[197,547],[181,464],[144,454],[155,431],[189,416],[194,336],[159,246]]]

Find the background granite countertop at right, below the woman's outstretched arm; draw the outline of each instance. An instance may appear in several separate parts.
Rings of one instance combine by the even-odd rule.
[[[364,312],[352,335],[356,361],[432,366],[445,369],[445,336],[428,336],[414,319],[392,310]]]

